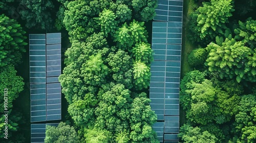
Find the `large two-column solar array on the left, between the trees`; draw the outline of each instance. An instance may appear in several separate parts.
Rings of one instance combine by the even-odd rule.
[[[61,34],[30,34],[31,122],[61,120]]]

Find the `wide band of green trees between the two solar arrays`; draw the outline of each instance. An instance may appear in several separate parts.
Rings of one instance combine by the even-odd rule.
[[[153,18],[156,1],[78,0],[63,7],[72,46],[59,80],[80,141],[159,142],[151,127],[157,117],[142,92],[153,61],[144,21]]]

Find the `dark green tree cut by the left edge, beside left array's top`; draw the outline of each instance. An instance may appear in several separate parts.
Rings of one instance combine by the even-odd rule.
[[[26,52],[26,32],[16,20],[4,14],[0,15],[0,20],[0,67],[20,63],[21,53]]]

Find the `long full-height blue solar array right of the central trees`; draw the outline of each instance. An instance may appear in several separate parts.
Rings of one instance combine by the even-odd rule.
[[[160,142],[179,142],[179,90],[183,0],[159,0],[152,29],[151,108]]]

